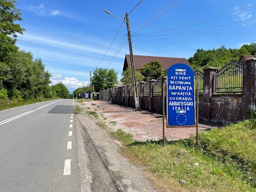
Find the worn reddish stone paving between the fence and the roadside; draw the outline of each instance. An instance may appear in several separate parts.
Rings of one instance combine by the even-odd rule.
[[[90,109],[89,109],[90,108]],[[104,121],[111,131],[122,129],[132,133],[137,141],[163,139],[163,116],[150,111],[135,111],[133,108],[119,106],[109,101],[84,101],[83,109],[95,111],[99,119]],[[198,130],[212,129],[219,124],[198,124]],[[166,128],[167,140],[187,139],[196,134],[196,127]]]

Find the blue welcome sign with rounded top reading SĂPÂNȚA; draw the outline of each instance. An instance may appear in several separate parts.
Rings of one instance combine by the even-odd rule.
[[[194,71],[183,63],[167,70],[167,122],[169,126],[195,125]]]

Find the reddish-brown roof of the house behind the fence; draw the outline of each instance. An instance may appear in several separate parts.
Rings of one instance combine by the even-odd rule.
[[[135,71],[141,72],[140,68],[150,61],[159,61],[163,70],[168,69],[175,63],[184,63],[190,65],[188,60],[185,58],[170,58],[170,57],[155,57],[155,56],[145,56],[145,55],[133,55],[134,69]],[[127,67],[131,66],[130,54],[126,54],[124,58],[124,67],[123,71],[127,69]]]

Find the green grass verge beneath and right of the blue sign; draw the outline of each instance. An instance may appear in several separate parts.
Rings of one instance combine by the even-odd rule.
[[[163,191],[256,191],[256,128],[250,119],[188,140],[138,142],[122,130],[123,155]]]

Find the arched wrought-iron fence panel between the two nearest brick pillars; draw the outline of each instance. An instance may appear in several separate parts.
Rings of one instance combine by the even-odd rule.
[[[236,61],[226,63],[216,73],[216,93],[242,93],[243,65]]]

